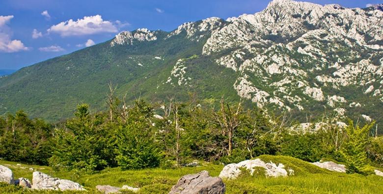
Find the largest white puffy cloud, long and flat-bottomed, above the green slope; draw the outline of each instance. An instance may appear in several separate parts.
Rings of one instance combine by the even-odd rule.
[[[61,22],[51,26],[48,33],[54,32],[64,36],[81,36],[89,34],[97,34],[103,32],[118,32],[117,27],[109,22],[104,21],[100,15],[85,16],[83,19]]]

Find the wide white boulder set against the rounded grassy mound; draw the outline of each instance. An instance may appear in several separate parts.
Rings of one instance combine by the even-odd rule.
[[[289,173],[287,173],[283,164],[276,165],[273,162],[265,163],[261,159],[257,158],[255,160],[245,160],[238,164],[228,164],[219,173],[219,177],[225,179],[235,179],[242,173],[240,170],[241,168],[246,168],[246,170],[249,170],[250,174],[253,175],[255,171],[254,168],[256,167],[265,169],[265,175],[271,177],[288,176],[289,174],[294,174],[294,170],[292,169],[289,169]]]

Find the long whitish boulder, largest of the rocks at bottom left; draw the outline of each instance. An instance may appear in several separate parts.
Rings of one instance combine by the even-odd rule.
[[[53,178],[48,174],[35,171],[32,178],[32,189],[36,190],[60,190],[60,191],[84,191],[79,183],[71,180]]]

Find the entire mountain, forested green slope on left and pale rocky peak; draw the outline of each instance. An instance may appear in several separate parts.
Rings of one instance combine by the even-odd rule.
[[[81,102],[102,110],[112,81],[128,100],[224,95],[300,121],[333,112],[383,124],[381,8],[274,0],[259,13],[171,32],[123,31],[1,77],[0,114],[24,109],[57,121]]]

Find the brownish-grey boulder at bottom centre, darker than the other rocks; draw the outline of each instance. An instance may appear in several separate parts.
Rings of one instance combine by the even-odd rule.
[[[204,170],[181,177],[169,194],[224,194],[225,184],[219,177],[211,177]]]

